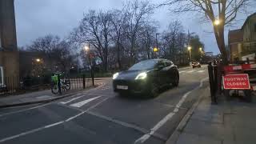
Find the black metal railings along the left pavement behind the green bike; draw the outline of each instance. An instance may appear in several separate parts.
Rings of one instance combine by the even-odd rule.
[[[0,95],[24,94],[38,90],[50,90],[51,78],[44,77],[4,77],[0,78]],[[86,75],[70,78],[70,90],[82,90],[92,86],[91,78]]]

